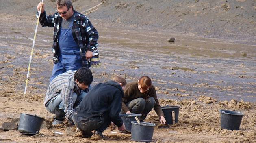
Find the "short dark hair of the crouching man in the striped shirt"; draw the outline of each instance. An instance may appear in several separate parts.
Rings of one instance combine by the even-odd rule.
[[[93,75],[91,70],[86,67],[81,67],[74,74],[74,80],[78,80],[79,83],[90,85],[93,81]]]

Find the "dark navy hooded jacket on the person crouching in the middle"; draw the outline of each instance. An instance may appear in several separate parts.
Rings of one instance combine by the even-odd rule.
[[[124,91],[117,82],[111,80],[99,83],[93,86],[74,109],[74,116],[93,118],[108,114],[111,121],[120,127],[123,124],[119,116],[122,97],[124,97]]]

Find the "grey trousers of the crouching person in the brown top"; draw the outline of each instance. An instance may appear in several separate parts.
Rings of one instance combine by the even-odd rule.
[[[146,99],[133,99],[132,101],[127,102],[126,106],[128,107],[131,113],[141,114],[141,120],[144,120],[155,104],[155,99],[153,97],[148,97]],[[122,113],[124,112],[122,111]]]

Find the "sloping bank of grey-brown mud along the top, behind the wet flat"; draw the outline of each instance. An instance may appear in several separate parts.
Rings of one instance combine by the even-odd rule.
[[[44,0],[56,11],[56,0]],[[35,13],[39,0],[0,0],[0,12]],[[256,0],[72,0],[102,27],[150,29],[256,45]],[[103,4],[97,6],[103,2]],[[93,8],[94,6],[97,6]],[[90,9],[92,8],[92,9]],[[88,11],[87,11],[88,10]],[[89,13],[91,12],[91,13]]]

